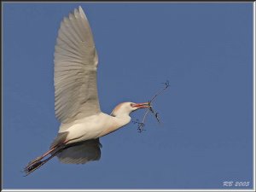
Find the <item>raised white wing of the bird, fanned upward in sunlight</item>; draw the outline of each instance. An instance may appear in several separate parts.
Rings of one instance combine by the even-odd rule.
[[[97,64],[90,25],[79,6],[62,20],[55,45],[55,116],[62,123],[101,111]]]

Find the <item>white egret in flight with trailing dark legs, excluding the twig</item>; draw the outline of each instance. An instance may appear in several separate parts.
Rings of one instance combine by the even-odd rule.
[[[99,138],[127,125],[131,112],[150,108],[149,102],[122,102],[110,114],[101,111],[96,84],[98,55],[80,6],[61,21],[54,56],[55,117],[61,125],[49,150],[25,167],[26,175],[55,156],[66,164],[99,160]]]

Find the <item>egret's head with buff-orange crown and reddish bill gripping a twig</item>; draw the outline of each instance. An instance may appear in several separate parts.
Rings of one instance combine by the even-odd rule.
[[[124,114],[130,114],[133,111],[136,111],[139,108],[149,108],[148,102],[142,102],[142,103],[135,103],[135,102],[122,102],[117,105],[111,115],[112,116],[119,116]]]

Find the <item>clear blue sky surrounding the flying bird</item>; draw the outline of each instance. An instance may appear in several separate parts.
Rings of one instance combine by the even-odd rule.
[[[147,102],[168,79],[154,103],[162,124],[150,116],[141,134],[131,123],[102,137],[100,161],[55,158],[22,177],[58,131],[55,39],[79,5],[99,55],[102,111]],[[3,4],[4,189],[224,189],[224,181],[253,188],[253,3]]]

